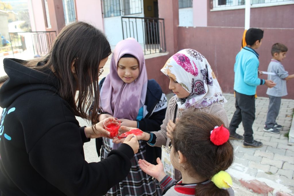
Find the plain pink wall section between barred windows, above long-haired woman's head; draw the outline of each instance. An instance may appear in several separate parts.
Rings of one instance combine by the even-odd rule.
[[[75,3],[78,21],[88,22],[104,31],[101,0],[76,0]]]

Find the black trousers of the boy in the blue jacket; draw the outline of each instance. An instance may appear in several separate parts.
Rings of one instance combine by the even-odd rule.
[[[252,125],[255,120],[255,95],[245,95],[235,91],[235,107],[236,111],[230,122],[230,133],[236,133],[236,129],[242,122],[244,128],[244,141],[253,141],[253,129]]]

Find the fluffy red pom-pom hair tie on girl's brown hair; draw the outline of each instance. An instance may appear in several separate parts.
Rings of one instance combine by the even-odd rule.
[[[227,128],[223,127],[223,125],[215,126],[214,129],[210,132],[210,140],[215,145],[222,145],[226,141],[228,141],[230,137],[230,132]]]

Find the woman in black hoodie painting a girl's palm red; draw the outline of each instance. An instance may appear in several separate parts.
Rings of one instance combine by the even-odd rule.
[[[98,163],[87,163],[83,153],[84,142],[109,134],[97,123],[99,92],[93,89],[110,53],[101,31],[76,22],[43,59],[4,59],[1,195],[104,195],[126,177],[139,147],[133,135]],[[80,127],[75,115],[88,118],[92,101],[92,126]]]

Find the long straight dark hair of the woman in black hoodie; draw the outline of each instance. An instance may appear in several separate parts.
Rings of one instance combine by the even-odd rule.
[[[96,27],[75,22],[65,26],[58,34],[49,53],[41,60],[26,65],[34,69],[51,68],[59,80],[58,93],[66,100],[74,114],[89,118],[87,110],[93,102],[92,125],[98,121],[98,71],[102,59],[111,54],[106,36]],[[44,62],[36,66],[37,61]],[[71,71],[74,63],[76,78]],[[77,103],[76,90],[79,89]]]

